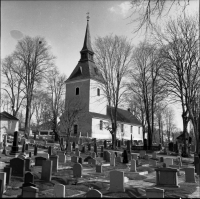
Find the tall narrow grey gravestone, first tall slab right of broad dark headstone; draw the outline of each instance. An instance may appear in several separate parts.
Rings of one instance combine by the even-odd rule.
[[[47,182],[51,181],[52,167],[53,167],[53,161],[45,160],[42,162],[41,180]]]

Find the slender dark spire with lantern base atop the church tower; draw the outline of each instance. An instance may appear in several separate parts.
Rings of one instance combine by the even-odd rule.
[[[83,43],[83,48],[81,50],[81,59],[80,62],[84,61],[92,61],[93,62],[93,55],[94,52],[92,50],[91,46],[91,38],[90,38],[90,29],[89,29],[89,13],[87,13],[87,26],[86,26],[86,31],[85,31],[85,39]]]

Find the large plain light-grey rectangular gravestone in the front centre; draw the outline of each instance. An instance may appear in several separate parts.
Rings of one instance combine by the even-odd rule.
[[[110,171],[110,191],[111,192],[125,191],[123,171]]]

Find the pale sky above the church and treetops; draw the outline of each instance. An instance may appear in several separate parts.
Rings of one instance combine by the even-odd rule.
[[[188,12],[198,12],[198,0],[190,0]],[[80,59],[86,29],[86,13],[90,13],[91,40],[110,33],[125,35],[136,46],[144,39],[143,33],[133,34],[137,24],[130,24],[128,1],[1,1],[1,58],[11,54],[18,39],[24,35],[45,37],[57,57],[61,73],[69,76]],[[182,12],[174,6],[170,16]],[[177,110],[178,127],[182,129],[180,110]]]

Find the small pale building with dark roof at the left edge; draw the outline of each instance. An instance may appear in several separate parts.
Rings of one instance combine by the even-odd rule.
[[[15,131],[19,131],[19,119],[4,111],[0,113],[0,120],[0,142],[2,142],[4,134],[14,135]]]

